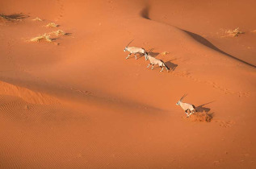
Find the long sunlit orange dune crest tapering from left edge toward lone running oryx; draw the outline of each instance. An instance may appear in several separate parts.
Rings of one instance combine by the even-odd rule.
[[[88,105],[90,107],[103,106],[105,109],[151,109],[160,110],[156,107],[145,105],[136,101],[120,100],[120,98],[115,97],[103,97],[97,95],[91,95],[80,90],[62,91],[65,93],[64,96],[50,96],[45,93],[34,92],[30,89],[19,87],[17,85],[11,85],[9,83],[0,81],[0,96],[12,96],[19,97],[27,103],[36,105]],[[89,92],[88,92],[89,93]],[[69,96],[69,97],[67,97]],[[11,99],[13,101],[13,98]],[[0,104],[1,105],[1,104]]]

